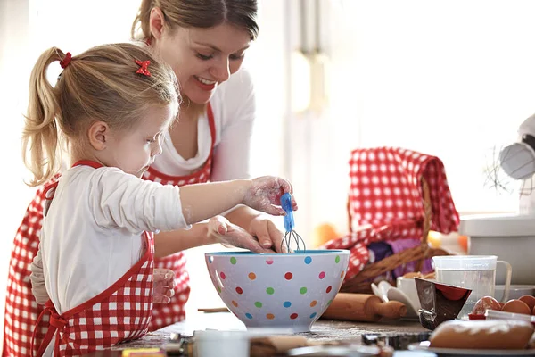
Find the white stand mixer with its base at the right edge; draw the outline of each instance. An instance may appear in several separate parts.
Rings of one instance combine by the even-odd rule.
[[[489,177],[494,187],[518,195],[518,212],[461,217],[459,234],[470,237],[469,254],[510,262],[511,284],[535,285],[535,114],[520,125],[518,140],[501,149],[498,163]],[[505,277],[505,270],[497,270],[496,283],[503,284]]]

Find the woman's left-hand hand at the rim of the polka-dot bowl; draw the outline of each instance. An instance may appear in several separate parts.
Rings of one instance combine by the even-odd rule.
[[[267,248],[263,247],[245,229],[230,223],[223,216],[215,216],[210,219],[208,222],[208,237],[223,245],[248,249],[253,253],[275,253],[274,250],[269,249],[271,244]]]

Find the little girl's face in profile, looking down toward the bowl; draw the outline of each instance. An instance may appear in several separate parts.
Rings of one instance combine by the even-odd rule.
[[[141,178],[156,155],[161,154],[163,132],[175,119],[177,104],[154,105],[143,113],[136,128],[113,130],[107,143],[106,166],[114,166]]]

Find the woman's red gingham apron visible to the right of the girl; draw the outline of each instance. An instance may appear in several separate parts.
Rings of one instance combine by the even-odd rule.
[[[146,170],[143,179],[160,182],[163,185],[184,186],[207,182],[210,179],[212,166],[212,153],[216,142],[216,126],[210,104],[207,107],[208,121],[210,124],[211,147],[210,155],[202,167],[188,176],[169,176],[153,168]],[[170,303],[156,303],[152,310],[150,331],[164,328],[173,323],[185,319],[185,303],[190,293],[189,275],[185,269],[185,254],[182,252],[169,255],[164,258],[154,259],[154,268],[170,269],[175,272],[177,285],[175,295]]]

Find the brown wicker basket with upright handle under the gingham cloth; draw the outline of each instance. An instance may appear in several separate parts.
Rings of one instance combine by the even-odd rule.
[[[438,255],[450,255],[450,253],[444,249],[435,249],[427,244],[427,235],[429,234],[429,228],[431,227],[431,198],[429,195],[429,185],[424,178],[422,178],[422,189],[424,191],[424,227],[422,235],[422,244],[413,248],[406,249],[402,252],[395,253],[379,262],[366,265],[364,270],[358,273],[354,278],[346,281],[341,292],[344,293],[372,293],[371,283],[374,278],[386,273],[387,271],[394,270],[399,266],[407,264],[408,262],[416,263],[416,271],[419,271],[424,263],[425,259]],[[349,213],[348,202],[348,213]],[[351,221],[351,220],[350,220]],[[395,286],[394,282],[391,282]]]

